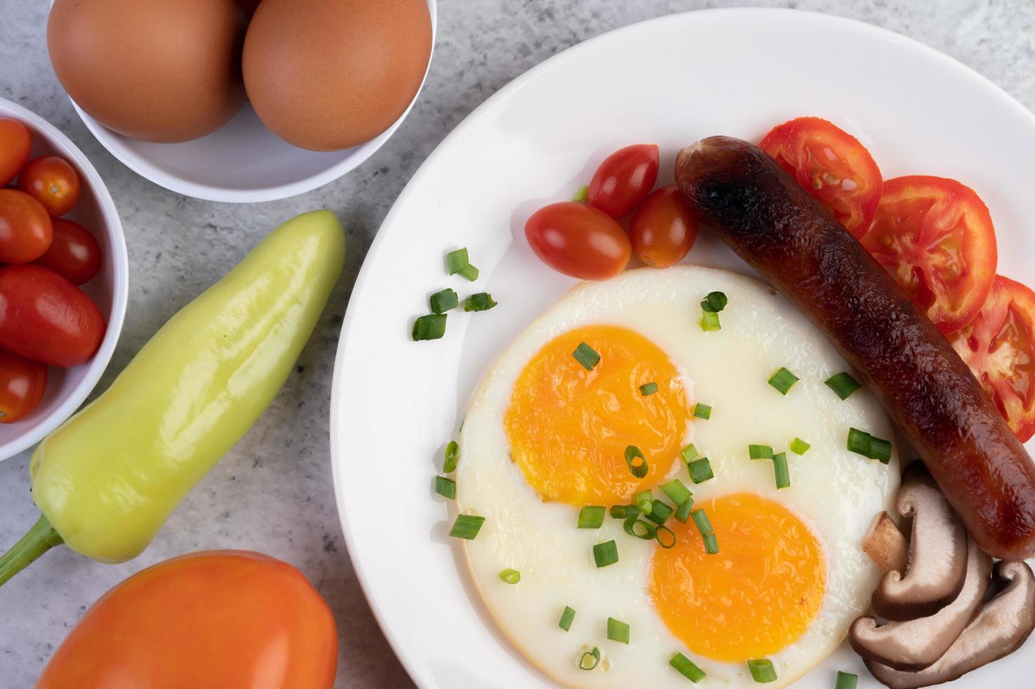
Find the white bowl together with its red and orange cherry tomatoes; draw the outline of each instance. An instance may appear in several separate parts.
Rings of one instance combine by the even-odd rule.
[[[128,277],[100,175],[56,127],[0,98],[0,460],[46,437],[97,384]]]

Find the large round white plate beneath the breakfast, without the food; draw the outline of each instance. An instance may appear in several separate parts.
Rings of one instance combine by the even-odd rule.
[[[573,283],[532,255],[525,220],[570,198],[620,146],[658,143],[659,183],[670,183],[681,146],[712,134],[758,140],[798,115],[855,134],[886,177],[928,173],[972,185],[996,222],[999,271],[1035,284],[1035,117],[900,35],[801,11],[699,11],[608,33],[515,80],[400,196],[353,290],[334,373],[331,450],[346,541],[418,685],[550,686],[484,611],[432,490],[443,443],[489,364]],[[477,283],[446,277],[442,256],[456,247],[469,248]],[[750,274],[707,233],[689,260]],[[428,293],[447,286],[462,296],[490,291],[500,306],[452,312],[444,339],[411,342]],[[957,684],[1023,686],[1026,658],[1035,645]],[[796,686],[827,689],[836,669],[878,686],[847,647]]]

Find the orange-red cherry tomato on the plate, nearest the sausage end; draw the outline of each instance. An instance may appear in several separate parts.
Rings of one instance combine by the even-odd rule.
[[[632,216],[632,252],[655,268],[675,265],[698,238],[698,225],[679,189],[675,184],[662,186],[644,199]]]

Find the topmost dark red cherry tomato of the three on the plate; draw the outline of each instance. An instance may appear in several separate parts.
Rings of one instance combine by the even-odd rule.
[[[657,181],[657,146],[635,144],[603,159],[589,182],[589,205],[612,218],[624,218],[640,205]]]

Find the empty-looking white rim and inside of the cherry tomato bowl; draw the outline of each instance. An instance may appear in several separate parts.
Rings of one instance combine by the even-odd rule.
[[[97,384],[115,351],[129,294],[129,260],[122,222],[115,202],[100,175],[68,137],[53,124],[22,106],[0,98],[0,118],[17,119],[32,133],[32,157],[47,153],[61,155],[76,166],[83,180],[83,195],[67,218],[93,233],[100,245],[101,266],[96,278],[83,285],[96,303],[108,329],[96,353],[72,369],[50,367],[47,393],[29,418],[14,424],[0,424],[0,461],[42,440],[79,408]]]

